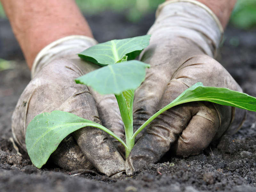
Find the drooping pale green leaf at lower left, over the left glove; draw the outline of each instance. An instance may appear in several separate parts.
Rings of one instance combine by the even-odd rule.
[[[125,145],[118,136],[106,127],[64,111],[52,111],[37,115],[27,127],[26,147],[32,163],[41,168],[60,142],[70,133],[92,126],[102,129]]]

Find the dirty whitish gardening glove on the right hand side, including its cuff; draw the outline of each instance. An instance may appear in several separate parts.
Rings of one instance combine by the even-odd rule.
[[[151,67],[135,92],[135,130],[197,82],[242,91],[212,59],[222,32],[213,12],[197,1],[168,1],[158,7],[156,21],[148,31],[150,44],[140,55]],[[173,107],[145,128],[126,159],[126,173],[132,175],[158,162],[168,151],[177,156],[197,155],[223,133],[236,132],[243,119],[244,110],[211,102]]]

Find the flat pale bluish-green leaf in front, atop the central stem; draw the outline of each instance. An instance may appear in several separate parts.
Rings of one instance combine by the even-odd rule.
[[[137,89],[144,81],[146,68],[149,67],[138,60],[115,63],[78,77],[75,81],[91,86],[100,94],[120,95],[126,90]]]

